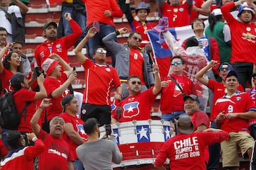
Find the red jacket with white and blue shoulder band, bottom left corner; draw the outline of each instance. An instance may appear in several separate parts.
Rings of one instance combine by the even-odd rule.
[[[33,159],[45,149],[42,140],[35,140],[34,146],[11,149],[1,161],[1,170],[33,170]]]

